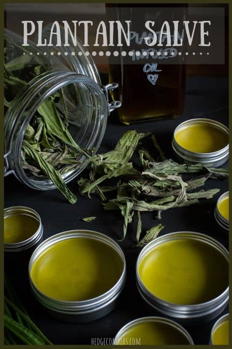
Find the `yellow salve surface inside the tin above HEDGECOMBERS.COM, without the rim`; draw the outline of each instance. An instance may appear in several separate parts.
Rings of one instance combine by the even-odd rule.
[[[118,345],[189,344],[187,338],[174,327],[161,322],[143,322],[131,326],[118,340]],[[134,343],[134,345],[136,342]]]

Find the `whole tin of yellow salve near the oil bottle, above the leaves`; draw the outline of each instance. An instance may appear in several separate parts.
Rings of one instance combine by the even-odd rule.
[[[219,167],[229,158],[229,129],[215,120],[190,119],[175,128],[172,146],[179,160]]]

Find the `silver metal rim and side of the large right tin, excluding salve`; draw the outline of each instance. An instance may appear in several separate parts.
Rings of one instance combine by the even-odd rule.
[[[209,321],[217,317],[227,306],[229,300],[229,286],[223,291],[223,293],[210,301],[201,304],[180,305],[163,301],[162,299],[156,297],[154,294],[148,291],[140,279],[138,267],[143,257],[145,257],[146,254],[161,243],[180,238],[198,240],[212,246],[213,248],[217,249],[217,251],[219,251],[229,263],[228,251],[214,238],[194,232],[175,232],[166,234],[149,242],[138,256],[136,263],[136,281],[139,293],[153,309],[167,317],[178,319],[178,321],[183,324],[194,324]]]

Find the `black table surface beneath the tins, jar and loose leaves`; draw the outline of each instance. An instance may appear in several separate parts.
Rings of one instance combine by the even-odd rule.
[[[105,77],[103,77],[105,79]],[[155,103],[155,102],[154,102]],[[141,105],[142,108],[142,105]],[[207,117],[218,120],[228,126],[228,80],[225,78],[188,78],[185,112],[176,119],[156,120],[125,126],[117,121],[116,113],[110,115],[106,132],[99,152],[112,149],[117,140],[127,130],[136,129],[139,132],[150,131],[155,134],[167,158],[173,158],[171,141],[174,128],[181,122]],[[152,152],[151,152],[152,153]],[[153,156],[156,157],[155,152]],[[228,164],[225,164],[225,167]],[[62,231],[72,229],[90,229],[102,232],[114,239],[122,234],[122,218],[116,211],[104,211],[99,198],[89,200],[87,196],[78,193],[77,179],[69,184],[77,194],[75,205],[69,204],[58,190],[37,191],[21,184],[13,175],[5,178],[5,207],[29,206],[41,216],[44,228],[44,238]],[[169,209],[162,213],[162,224],[165,226],[160,235],[175,231],[195,231],[207,234],[229,248],[228,232],[220,228],[214,218],[214,209],[218,197],[228,190],[227,180],[209,179],[206,189],[220,188],[220,192],[211,200],[203,200],[200,205]],[[96,221],[83,222],[80,217],[97,216]],[[143,214],[143,231],[155,225],[155,213]],[[127,322],[138,317],[156,315],[154,310],[147,312],[144,302],[138,294],[135,283],[135,263],[140,252],[133,248],[135,224],[129,224],[128,234],[122,247],[127,263],[127,281],[116,309],[107,316],[89,323],[70,324],[49,317],[43,307],[34,299],[28,280],[18,278],[16,273],[9,275],[14,288],[24,303],[29,315],[43,333],[54,344],[91,344],[91,338],[113,338],[118,330]],[[227,313],[226,309],[223,313]],[[216,319],[215,319],[216,320]],[[215,322],[187,326],[195,344],[208,344],[211,328]]]

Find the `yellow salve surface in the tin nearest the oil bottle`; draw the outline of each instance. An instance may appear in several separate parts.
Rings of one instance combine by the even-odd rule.
[[[175,134],[176,142],[183,148],[195,153],[213,153],[229,143],[229,136],[209,124],[190,125]]]

